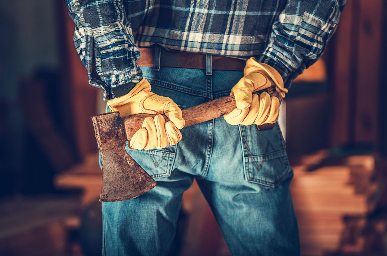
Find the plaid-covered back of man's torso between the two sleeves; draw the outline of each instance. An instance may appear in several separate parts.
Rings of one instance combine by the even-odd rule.
[[[135,45],[233,57],[262,53],[284,0],[124,1]]]

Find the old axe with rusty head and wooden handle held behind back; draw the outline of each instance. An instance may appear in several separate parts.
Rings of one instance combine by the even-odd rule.
[[[254,93],[266,91],[282,101],[276,87],[270,87]],[[235,97],[226,96],[200,105],[183,109],[185,126],[199,124],[230,113],[236,107]],[[142,127],[146,117],[154,115],[137,114],[121,118],[119,112],[104,113],[92,117],[94,131],[102,160],[102,188],[99,201],[114,202],[136,198],[151,190],[157,182],[134,161],[125,151],[125,142],[130,141],[134,133]],[[168,118],[163,115],[168,122]],[[274,124],[263,124],[258,129],[267,129]]]

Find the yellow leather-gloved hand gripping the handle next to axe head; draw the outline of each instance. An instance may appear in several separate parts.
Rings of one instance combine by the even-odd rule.
[[[143,78],[128,94],[108,101],[112,111],[119,111],[121,117],[146,113],[156,115],[147,117],[132,137],[129,147],[132,149],[165,148],[174,145],[182,139],[179,129],[184,127],[185,121],[182,110],[168,97],[159,96],[151,92],[151,84]],[[165,114],[169,122],[165,122]]]

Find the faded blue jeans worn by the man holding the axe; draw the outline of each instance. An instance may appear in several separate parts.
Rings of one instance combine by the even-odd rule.
[[[152,91],[182,108],[229,95],[241,71],[143,67]],[[103,255],[166,255],[182,195],[196,179],[233,256],[299,255],[284,139],[276,124],[229,125],[223,117],[186,127],[164,149],[127,152],[157,182],[128,201],[102,203]]]

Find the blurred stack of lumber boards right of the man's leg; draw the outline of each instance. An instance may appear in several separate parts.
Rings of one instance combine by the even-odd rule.
[[[301,255],[363,255],[373,157],[351,156],[340,165],[308,171],[322,155],[305,156],[293,166],[291,193]]]

